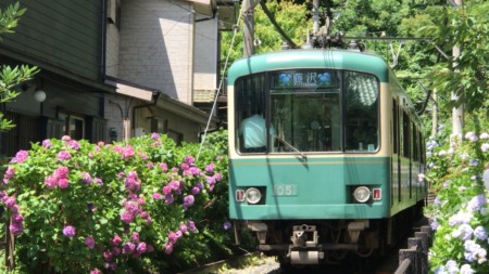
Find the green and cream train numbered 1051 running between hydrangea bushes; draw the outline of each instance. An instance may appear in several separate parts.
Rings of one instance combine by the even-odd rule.
[[[421,217],[422,123],[359,50],[258,54],[228,70],[229,214],[285,265],[378,255]]]

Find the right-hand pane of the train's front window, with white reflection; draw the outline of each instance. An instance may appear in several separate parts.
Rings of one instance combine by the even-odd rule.
[[[378,148],[378,80],[362,73],[344,73],[344,142],[347,152]]]

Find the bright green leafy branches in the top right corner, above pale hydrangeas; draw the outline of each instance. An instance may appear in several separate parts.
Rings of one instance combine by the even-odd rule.
[[[443,9],[419,29],[449,54],[454,47],[461,49],[460,56],[441,60],[428,75],[432,88],[444,93],[446,97],[451,93],[457,96],[457,100],[444,102],[447,108],[463,104],[468,112],[489,109],[488,12],[487,1],[464,1],[463,6]]]

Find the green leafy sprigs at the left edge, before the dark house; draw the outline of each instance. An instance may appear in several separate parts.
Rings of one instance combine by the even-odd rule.
[[[17,26],[21,16],[25,13],[26,9],[20,9],[18,2],[7,6],[4,11],[0,10],[0,42],[2,41],[3,34],[12,34],[13,28]],[[36,66],[15,66],[11,67],[5,64],[0,66],[0,103],[11,102],[18,96],[18,92],[15,88],[22,82],[32,79],[39,69]],[[11,120],[3,117],[0,113],[0,130],[9,130],[15,127]]]

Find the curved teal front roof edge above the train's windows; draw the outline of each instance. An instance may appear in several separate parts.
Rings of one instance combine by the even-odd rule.
[[[374,74],[381,82],[389,79],[389,66],[378,55],[349,50],[285,50],[237,60],[228,71],[228,82],[238,77],[284,68],[336,68]]]

